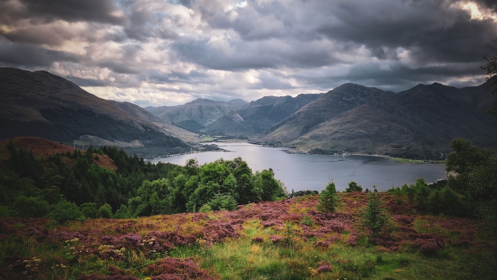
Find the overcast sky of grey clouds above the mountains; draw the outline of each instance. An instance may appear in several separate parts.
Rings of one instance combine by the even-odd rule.
[[[494,0],[0,0],[0,67],[141,106],[485,82]]]

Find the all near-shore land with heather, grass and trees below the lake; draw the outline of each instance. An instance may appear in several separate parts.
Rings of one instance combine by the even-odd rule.
[[[497,157],[463,139],[446,181],[321,194],[241,158],[27,140],[0,149],[0,279],[494,278]]]

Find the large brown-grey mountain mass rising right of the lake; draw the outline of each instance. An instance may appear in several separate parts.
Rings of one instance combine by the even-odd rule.
[[[483,110],[484,86],[419,85],[401,93],[342,85],[305,105],[256,139],[319,154],[341,152],[441,158],[457,137],[495,147],[497,120]]]

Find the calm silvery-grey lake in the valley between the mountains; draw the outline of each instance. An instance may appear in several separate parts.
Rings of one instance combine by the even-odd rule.
[[[344,190],[351,181],[362,185],[363,190],[371,189],[375,182],[378,190],[386,190],[392,185],[402,187],[404,184],[414,184],[418,178],[424,178],[427,183],[445,179],[444,164],[402,164],[378,156],[290,154],[283,151],[285,148],[270,148],[249,143],[216,145],[229,152],[193,153],[149,161],[184,165],[191,158],[196,158],[199,164],[204,164],[220,158],[233,160],[242,157],[252,172],[272,168],[274,177],[283,182],[289,192],[292,189],[321,191],[330,179],[335,183],[337,191]]]

